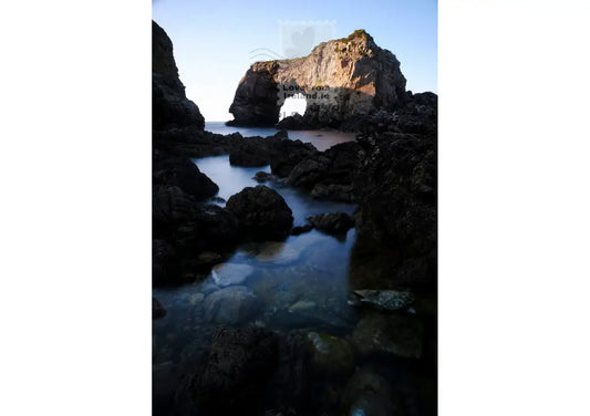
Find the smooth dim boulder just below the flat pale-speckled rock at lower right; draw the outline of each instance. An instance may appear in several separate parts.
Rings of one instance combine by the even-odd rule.
[[[422,356],[423,327],[415,316],[370,313],[354,329],[352,344],[361,355]]]

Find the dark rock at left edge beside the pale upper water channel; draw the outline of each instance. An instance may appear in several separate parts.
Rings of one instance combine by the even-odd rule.
[[[154,164],[154,184],[177,186],[197,200],[205,200],[219,187],[187,158],[158,160]]]

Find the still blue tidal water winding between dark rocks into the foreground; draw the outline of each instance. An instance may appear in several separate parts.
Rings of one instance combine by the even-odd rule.
[[[261,131],[265,129],[240,128],[244,135],[265,135]],[[268,134],[275,133],[275,129],[266,131]],[[291,133],[289,132],[290,137]],[[323,133],[324,145],[339,143],[341,139],[338,134],[332,136],[331,133]],[[270,171],[269,166],[262,168],[231,166],[227,155],[199,158],[194,162],[219,186],[218,197],[224,200],[211,199],[210,202],[220,206],[245,187],[260,185],[252,179],[256,171]],[[263,185],[276,189],[284,198],[293,212],[293,226],[306,223],[306,217],[310,215],[337,211],[353,214],[355,210],[352,204],[319,201],[309,193],[280,181],[269,181]],[[232,264],[230,268],[246,271],[234,275],[236,280],[227,279],[221,267],[220,270],[216,269],[218,272],[211,271],[193,283],[176,288],[155,288],[153,294],[164,305],[167,314],[163,319],[153,321],[154,415],[177,414],[170,413],[170,409],[177,406],[174,397],[177,396],[179,386],[186,385],[187,374],[195,371],[199,355],[207,351],[211,334],[220,324],[234,327],[253,325],[284,334],[298,330],[308,334],[313,331],[350,340],[355,325],[364,316],[364,312],[349,304],[353,289],[351,253],[355,239],[356,232],[353,228],[340,238],[312,230],[300,236],[290,236],[283,242],[244,243],[229,259],[222,260],[225,264]],[[227,266],[225,268],[227,270]],[[368,270],[368,274],[371,275],[374,271]],[[250,300],[246,306],[232,311],[230,299],[232,295],[229,295],[232,291],[239,292],[240,295],[248,293],[253,301]],[[220,293],[229,293],[227,299],[230,303],[221,304],[217,312],[214,311],[211,314],[211,309],[207,306],[208,297],[219,297]],[[211,316],[221,316],[230,322],[215,322]],[[426,394],[428,398],[421,402],[428,406],[432,406],[431,403],[435,404],[435,399],[432,398],[435,397],[432,376],[426,377],[426,383],[423,378],[416,382],[418,387],[407,388],[407,381],[414,377],[414,371],[405,372],[403,365],[382,360],[368,361],[358,357],[354,363],[354,374],[369,376],[373,373],[366,372],[368,366],[379,368],[387,383],[402,385],[410,392],[407,394],[411,397],[406,401],[417,401],[415,395]],[[341,382],[345,383],[348,377]],[[343,386],[344,384],[339,388]],[[423,389],[426,393],[420,393]],[[320,391],[317,396],[323,401],[323,393]],[[351,408],[350,414],[370,414],[372,412],[369,409],[372,406],[382,406],[373,396],[368,397],[371,397],[370,404],[362,405],[358,409]],[[385,412],[387,406],[383,406],[379,412]],[[411,414],[420,415],[422,412]]]

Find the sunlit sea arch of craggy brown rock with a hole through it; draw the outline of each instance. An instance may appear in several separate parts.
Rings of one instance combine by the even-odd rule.
[[[304,93],[301,124],[338,127],[359,114],[402,105],[405,83],[395,55],[358,30],[320,43],[306,58],[253,63],[229,108],[231,124],[275,125],[286,94]]]

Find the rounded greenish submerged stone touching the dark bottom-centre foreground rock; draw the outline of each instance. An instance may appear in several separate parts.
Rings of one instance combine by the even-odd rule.
[[[308,340],[312,346],[312,362],[318,375],[338,377],[352,372],[354,355],[345,340],[318,332],[310,332]]]

